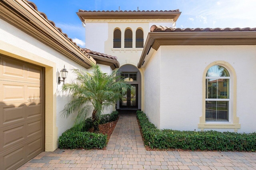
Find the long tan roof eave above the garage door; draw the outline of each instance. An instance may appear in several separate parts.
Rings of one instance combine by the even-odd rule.
[[[0,1],[0,18],[85,68],[96,63],[25,1]]]

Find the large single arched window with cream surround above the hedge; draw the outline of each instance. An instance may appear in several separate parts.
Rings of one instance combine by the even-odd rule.
[[[202,116],[198,128],[241,128],[236,116],[236,72],[226,61],[214,61],[204,70],[202,81]]]

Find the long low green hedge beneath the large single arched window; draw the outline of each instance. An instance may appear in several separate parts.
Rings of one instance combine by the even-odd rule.
[[[256,151],[256,133],[160,130],[137,111],[144,144],[155,149]]]

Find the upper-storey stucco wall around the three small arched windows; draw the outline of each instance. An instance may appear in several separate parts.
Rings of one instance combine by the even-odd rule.
[[[136,48],[136,30],[138,28],[142,29],[145,43],[152,25],[172,27],[172,24],[172,21],[163,20],[151,22],[145,20],[141,20],[141,22],[134,20],[118,20],[105,23],[101,23],[100,21],[86,22],[86,48],[118,57],[120,66],[124,64],[137,66],[143,48]],[[113,35],[116,28],[121,30],[121,48],[113,48]],[[124,32],[127,28],[132,30],[133,48],[124,48]]]

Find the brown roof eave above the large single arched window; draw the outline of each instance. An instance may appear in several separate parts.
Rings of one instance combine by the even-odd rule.
[[[256,32],[150,32],[138,68],[142,67],[150,48],[157,51],[161,45],[256,45]]]

